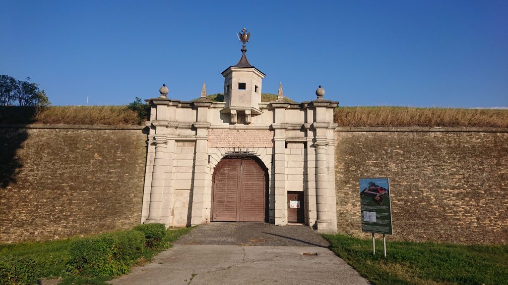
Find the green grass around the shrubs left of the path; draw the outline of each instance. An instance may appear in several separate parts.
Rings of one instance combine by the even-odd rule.
[[[138,260],[137,265],[144,265],[152,258],[172,246],[172,242],[192,228],[170,228],[159,246],[145,248],[143,256]],[[0,258],[27,258],[33,261],[34,271],[37,279],[61,278],[59,284],[106,284],[110,280],[108,276],[69,276],[66,273],[66,265],[71,256],[69,248],[73,240],[79,238],[44,241],[25,242],[17,244],[0,244]],[[2,272],[0,272],[1,274]],[[37,284],[37,283],[34,283]]]

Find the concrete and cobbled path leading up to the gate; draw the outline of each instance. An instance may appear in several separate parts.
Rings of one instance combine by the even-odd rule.
[[[326,241],[309,227],[262,224],[210,223],[199,226],[182,236],[174,247],[157,255],[151,263],[136,267],[131,274],[110,283],[369,284],[357,271],[324,247],[321,242]],[[238,235],[241,229],[243,231]],[[268,233],[268,230],[271,232]],[[302,233],[300,237],[291,236],[299,231]],[[236,244],[200,244],[213,243],[210,240],[215,240],[220,232],[223,239],[219,239],[219,242],[225,243],[224,240],[227,240]],[[210,233],[207,238],[206,235]],[[261,238],[270,239],[259,241]],[[250,245],[247,245],[249,242]],[[273,245],[278,242],[299,243],[300,246]],[[252,246],[258,243],[270,245]]]

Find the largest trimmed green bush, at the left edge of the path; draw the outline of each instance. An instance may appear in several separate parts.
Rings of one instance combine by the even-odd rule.
[[[145,243],[140,231],[122,231],[74,241],[70,247],[71,274],[119,276],[129,273],[129,267],[142,254]]]

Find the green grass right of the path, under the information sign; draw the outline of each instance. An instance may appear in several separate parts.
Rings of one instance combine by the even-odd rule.
[[[508,284],[508,245],[383,243],[344,235],[324,235],[330,249],[377,285]]]

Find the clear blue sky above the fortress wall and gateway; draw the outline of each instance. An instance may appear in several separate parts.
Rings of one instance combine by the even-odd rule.
[[[508,1],[6,1],[0,74],[54,105],[222,92],[235,32],[263,92],[341,105],[508,106]]]

